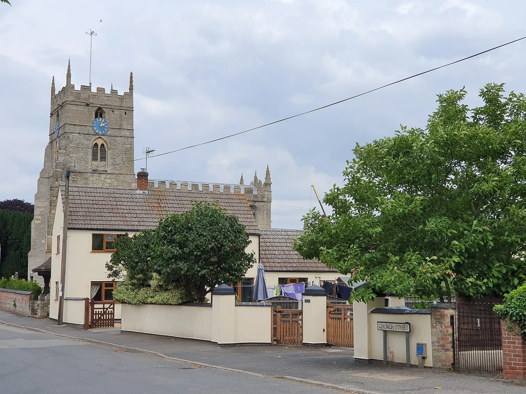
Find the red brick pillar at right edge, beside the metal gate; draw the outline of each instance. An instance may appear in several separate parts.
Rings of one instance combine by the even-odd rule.
[[[526,344],[520,335],[508,331],[507,324],[508,320],[501,320],[504,379],[526,380]]]

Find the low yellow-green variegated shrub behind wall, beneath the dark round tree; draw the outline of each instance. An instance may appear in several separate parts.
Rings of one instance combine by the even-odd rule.
[[[113,292],[113,298],[124,304],[159,304],[159,305],[179,305],[189,302],[190,299],[185,295],[181,288],[163,290],[156,285],[156,278],[150,281],[151,287],[137,288],[129,280],[117,283]],[[157,278],[158,279],[158,278]]]

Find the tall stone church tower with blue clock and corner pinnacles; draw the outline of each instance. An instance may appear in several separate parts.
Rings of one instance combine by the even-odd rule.
[[[92,128],[96,118],[106,121],[98,133]],[[44,154],[35,194],[35,216],[31,226],[31,252],[28,276],[32,269],[51,256],[51,234],[59,186],[70,184],[136,188],[134,173],[133,76],[129,91],[119,95],[112,88],[92,92],[90,86],[75,90],[68,62],[66,86],[55,92],[51,85],[49,143]],[[35,275],[42,281],[42,277]]]

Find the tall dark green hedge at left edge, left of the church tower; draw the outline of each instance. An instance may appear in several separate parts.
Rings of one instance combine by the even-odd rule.
[[[27,277],[32,221],[33,213],[0,209],[0,276],[18,272],[19,277]]]

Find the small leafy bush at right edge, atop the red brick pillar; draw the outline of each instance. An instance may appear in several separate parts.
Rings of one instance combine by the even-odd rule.
[[[504,296],[504,304],[493,310],[501,319],[508,319],[508,331],[518,334],[526,341],[526,285]]]

